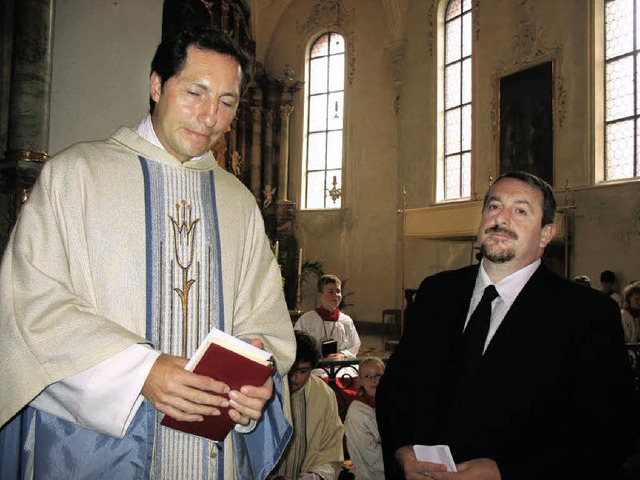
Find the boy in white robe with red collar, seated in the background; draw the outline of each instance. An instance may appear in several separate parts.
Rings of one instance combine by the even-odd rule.
[[[342,282],[335,275],[322,275],[318,279],[320,305],[302,315],[294,326],[295,330],[307,332],[316,340],[323,358],[356,358],[360,350],[360,337],[353,320],[338,310],[342,300],[341,287]],[[318,369],[314,374],[322,372]],[[349,373],[357,374],[353,369]]]

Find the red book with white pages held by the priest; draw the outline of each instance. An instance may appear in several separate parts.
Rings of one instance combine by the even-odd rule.
[[[226,383],[231,390],[240,390],[243,385],[262,385],[271,376],[273,368],[270,353],[217,329],[209,332],[185,366],[186,370]],[[185,433],[222,441],[235,422],[229,417],[229,408],[218,408],[220,415],[205,416],[202,422],[185,422],[165,415],[160,423]]]

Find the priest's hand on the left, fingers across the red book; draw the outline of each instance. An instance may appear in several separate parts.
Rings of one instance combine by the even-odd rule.
[[[216,394],[229,393],[229,386],[185,370],[186,364],[186,358],[160,354],[142,386],[142,395],[159,412],[176,420],[199,422],[205,415],[220,415],[216,407],[228,407],[230,402]]]

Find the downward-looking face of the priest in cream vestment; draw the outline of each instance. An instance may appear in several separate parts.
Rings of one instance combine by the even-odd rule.
[[[242,70],[232,57],[194,46],[184,68],[162,85],[153,72],[152,114],[158,140],[181,162],[204,155],[227,131],[238,109]]]

